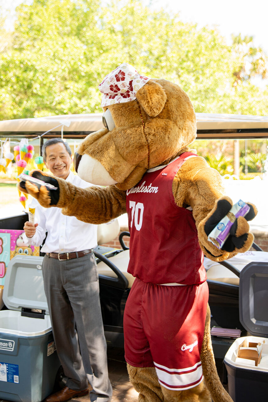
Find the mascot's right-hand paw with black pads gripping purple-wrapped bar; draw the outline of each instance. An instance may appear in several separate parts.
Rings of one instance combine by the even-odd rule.
[[[247,203],[249,211],[242,217],[235,218],[233,222],[229,236],[221,248],[217,248],[214,244],[208,241],[208,235],[211,231],[221,222],[221,220],[229,213],[233,206],[232,200],[229,197],[222,197],[216,201],[214,208],[208,214],[208,216],[200,222],[200,227],[203,229],[202,240],[204,253],[208,258],[217,258],[217,260],[230,258],[237,254],[237,252],[245,252],[249,250],[254,240],[252,233],[249,233],[249,224],[247,221],[252,220],[257,215],[257,208],[251,203]],[[201,230],[202,231],[202,230]],[[231,254],[231,255],[228,255]]]

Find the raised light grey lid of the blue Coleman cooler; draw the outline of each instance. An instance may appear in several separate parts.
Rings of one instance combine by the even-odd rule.
[[[9,310],[45,310],[49,314],[42,275],[43,257],[16,255],[6,269],[3,301]]]

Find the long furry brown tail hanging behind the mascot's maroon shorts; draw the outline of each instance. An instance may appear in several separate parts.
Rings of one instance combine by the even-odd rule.
[[[211,394],[213,402],[233,402],[231,396],[221,384],[217,373],[210,336],[210,308],[206,310],[206,324],[201,350],[201,362],[206,386]]]

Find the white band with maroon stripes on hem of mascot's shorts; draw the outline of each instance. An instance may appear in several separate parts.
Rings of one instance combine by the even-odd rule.
[[[189,390],[203,380],[201,361],[185,369],[169,369],[155,362],[154,365],[160,384],[168,390]]]

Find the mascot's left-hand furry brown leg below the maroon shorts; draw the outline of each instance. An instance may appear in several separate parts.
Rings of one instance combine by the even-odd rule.
[[[127,367],[130,382],[139,393],[139,402],[165,401],[155,367],[133,367],[128,363]]]

